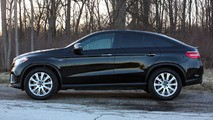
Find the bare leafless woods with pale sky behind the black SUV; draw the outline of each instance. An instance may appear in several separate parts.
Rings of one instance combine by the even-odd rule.
[[[198,46],[213,67],[213,0],[1,0],[0,67],[100,30],[163,33]]]

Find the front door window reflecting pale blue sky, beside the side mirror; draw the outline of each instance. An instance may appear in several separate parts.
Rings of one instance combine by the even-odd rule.
[[[82,46],[84,50],[110,49],[113,39],[114,34],[96,35],[83,41]]]

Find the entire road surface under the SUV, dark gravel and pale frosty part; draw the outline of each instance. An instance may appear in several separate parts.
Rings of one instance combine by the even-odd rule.
[[[55,116],[55,117],[54,117]],[[213,119],[213,93],[183,89],[162,101],[144,91],[59,91],[49,100],[32,100],[24,91],[0,84],[0,120],[30,119]]]

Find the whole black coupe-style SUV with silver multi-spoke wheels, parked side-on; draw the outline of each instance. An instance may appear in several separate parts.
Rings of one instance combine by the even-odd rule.
[[[202,82],[197,48],[142,31],[101,31],[65,48],[22,54],[13,60],[10,86],[34,99],[61,89],[143,89],[159,99]]]

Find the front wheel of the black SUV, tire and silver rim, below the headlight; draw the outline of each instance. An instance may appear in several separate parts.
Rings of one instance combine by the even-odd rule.
[[[51,70],[35,68],[26,75],[24,89],[31,98],[44,100],[57,92],[58,80]]]

